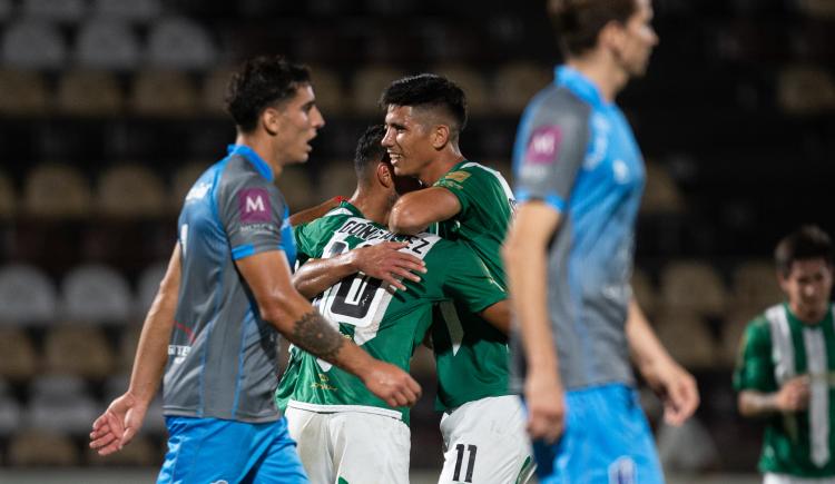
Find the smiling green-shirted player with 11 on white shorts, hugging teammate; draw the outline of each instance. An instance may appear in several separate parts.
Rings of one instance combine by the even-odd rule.
[[[386,107],[383,146],[395,174],[428,187],[397,200],[389,220],[392,231],[415,234],[438,223],[439,235],[471,247],[507,287],[500,247],[514,197],[501,174],[468,160],[459,149],[466,126],[464,92],[424,73],[393,82],[381,103]],[[441,304],[436,313],[436,407],[444,413],[440,482],[515,482],[517,463],[532,462],[532,454],[521,403],[509,391],[507,332],[461,304]],[[461,478],[462,468],[471,480]]]

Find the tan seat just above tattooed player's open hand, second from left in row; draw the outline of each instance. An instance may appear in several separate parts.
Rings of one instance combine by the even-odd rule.
[[[70,374],[101,379],[115,365],[114,352],[105,335],[95,326],[59,325],[52,327],[43,343],[45,369],[48,374]]]

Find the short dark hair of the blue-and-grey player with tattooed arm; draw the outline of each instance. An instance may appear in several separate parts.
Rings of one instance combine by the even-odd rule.
[[[311,83],[307,67],[283,56],[255,57],[232,76],[226,89],[226,110],[242,131],[250,132],[265,108],[292,98],[306,83]]]

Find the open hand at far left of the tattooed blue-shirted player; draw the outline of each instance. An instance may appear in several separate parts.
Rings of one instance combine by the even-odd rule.
[[[109,455],[130,443],[143,426],[148,405],[126,393],[110,403],[104,414],[92,423],[90,448],[99,455]]]

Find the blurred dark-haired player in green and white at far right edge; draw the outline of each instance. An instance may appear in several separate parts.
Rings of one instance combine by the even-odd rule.
[[[788,300],[750,322],[734,372],[739,413],[766,422],[766,484],[835,483],[833,248],[805,226],[775,250]]]

